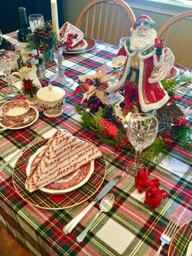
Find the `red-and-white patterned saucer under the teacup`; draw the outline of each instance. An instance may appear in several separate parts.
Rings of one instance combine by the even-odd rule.
[[[15,126],[7,128],[9,130],[19,130],[19,129],[23,129],[25,127],[31,126],[35,121],[37,121],[38,117],[39,117],[39,112],[37,110],[37,108],[30,106],[29,110],[28,110],[28,116],[30,117],[31,121],[28,124],[15,124]],[[0,121],[0,126],[2,126],[3,128],[5,127],[9,127],[11,126],[13,123],[5,116],[1,116],[2,120]]]

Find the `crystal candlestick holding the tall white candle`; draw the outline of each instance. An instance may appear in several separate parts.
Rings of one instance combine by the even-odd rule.
[[[72,79],[65,76],[65,67],[63,66],[63,47],[55,47],[53,49],[53,59],[55,60],[55,76],[50,77],[51,81],[59,82],[63,86],[72,86]]]

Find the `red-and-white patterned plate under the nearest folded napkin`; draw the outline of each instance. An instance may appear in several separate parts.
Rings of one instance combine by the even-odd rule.
[[[26,168],[27,176],[30,174],[31,166],[33,165],[33,161],[37,157],[37,155],[45,148],[42,146],[33,154],[32,157],[29,158],[28,166]],[[89,164],[82,166],[80,169],[75,170],[71,174],[66,175],[62,179],[56,180],[53,183],[46,185],[44,188],[40,188],[42,192],[50,193],[50,194],[62,194],[71,192],[76,188],[80,188],[83,184],[85,184],[90,175],[94,172],[94,161],[89,162]]]

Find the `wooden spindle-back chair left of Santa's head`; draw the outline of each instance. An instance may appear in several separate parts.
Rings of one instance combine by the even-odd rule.
[[[119,45],[120,38],[129,37],[135,15],[123,0],[92,0],[76,20],[85,37]]]

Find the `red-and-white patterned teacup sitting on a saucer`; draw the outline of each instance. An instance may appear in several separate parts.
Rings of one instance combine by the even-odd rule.
[[[28,115],[30,105],[23,99],[13,99],[2,105],[1,113],[10,121],[17,123]]]

